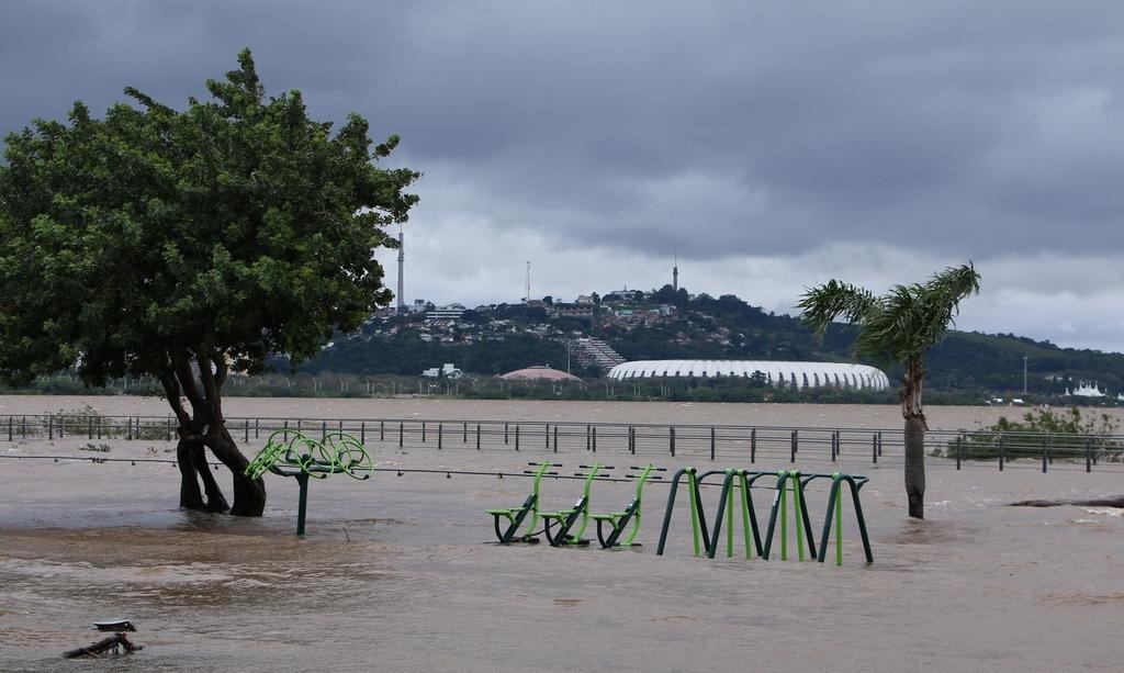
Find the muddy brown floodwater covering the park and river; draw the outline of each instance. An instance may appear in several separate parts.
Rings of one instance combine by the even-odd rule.
[[[0,398],[0,416],[90,403],[103,413],[163,415],[158,400]],[[1010,413],[1009,409],[998,410]],[[892,407],[230,399],[232,416],[432,418],[886,427]],[[934,427],[991,422],[991,408],[928,410]],[[1121,470],[1033,462],[928,460],[927,518],[906,517],[900,461],[852,461],[870,476],[862,504],[867,565],[846,507],[844,562],[695,557],[686,498],[655,555],[668,485],[645,491],[631,549],[492,544],[484,509],[518,504],[528,461],[564,472],[566,448],[445,451],[369,442],[379,472],[310,484],[308,533],[294,536],[293,480],[268,475],[265,516],[180,511],[162,442],[0,440],[0,670],[3,671],[1115,671],[1124,667],[1124,518],[1113,508],[1013,508],[1027,498],[1124,493]],[[253,445],[253,442],[251,443]],[[253,451],[254,446],[247,446]],[[821,458],[823,456],[819,456]],[[605,449],[615,474],[636,456]],[[653,460],[644,457],[643,460]],[[661,456],[703,469],[743,464]],[[788,469],[786,462],[758,467]],[[805,472],[839,469],[800,457]],[[447,471],[436,473],[409,470]],[[462,471],[487,475],[457,474]],[[499,479],[498,473],[505,473]],[[220,483],[228,485],[224,472]],[[814,525],[826,491],[813,482]],[[545,509],[572,504],[579,481],[546,480]],[[631,498],[597,483],[592,508]],[[708,516],[717,489],[704,489]],[[754,494],[768,516],[769,493]],[[764,512],[762,515],[762,512]],[[587,533],[590,536],[591,531]],[[735,535],[738,545],[740,534]],[[776,552],[774,552],[776,553]],[[91,622],[128,618],[142,652],[63,661],[98,639]]]

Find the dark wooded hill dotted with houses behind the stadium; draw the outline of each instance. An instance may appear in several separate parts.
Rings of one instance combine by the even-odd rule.
[[[797,318],[765,312],[732,294],[691,297],[664,287],[629,301],[600,302],[592,318],[551,317],[552,309],[547,301],[469,310],[455,321],[425,320],[422,313],[379,318],[341,335],[300,371],[416,375],[446,362],[477,374],[533,364],[565,370],[563,339],[577,336],[601,338],[626,360],[852,360],[852,328],[833,327],[821,344]],[[1062,393],[1080,381],[1096,381],[1113,394],[1124,390],[1124,355],[964,331],[950,333],[930,353],[926,383],[935,390],[1021,392],[1024,357],[1032,393]],[[571,370],[598,375],[579,371],[574,362]],[[896,379],[898,372],[887,373]]]

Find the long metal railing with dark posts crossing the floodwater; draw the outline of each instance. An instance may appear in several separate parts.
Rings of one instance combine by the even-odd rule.
[[[235,440],[256,445],[277,430],[306,435],[350,433],[364,445],[434,451],[631,454],[691,460],[764,462],[901,463],[904,433],[876,428],[752,425],[659,425],[527,420],[227,418]],[[54,439],[172,442],[171,417],[52,413],[0,416],[0,442]],[[1066,435],[931,430],[925,453],[948,465],[998,470],[1117,470],[1124,472],[1124,435]],[[940,465],[937,460],[931,465]]]

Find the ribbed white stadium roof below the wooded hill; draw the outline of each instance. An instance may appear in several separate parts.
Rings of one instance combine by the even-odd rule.
[[[772,385],[795,388],[847,388],[885,390],[890,380],[879,369],[840,362],[773,362],[768,360],[637,360],[613,367],[609,378],[655,379],[662,376],[736,376],[749,379],[761,372]]]

